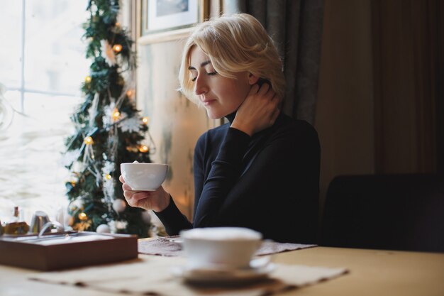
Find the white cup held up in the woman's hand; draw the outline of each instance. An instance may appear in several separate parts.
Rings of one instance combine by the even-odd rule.
[[[162,163],[121,163],[121,173],[132,190],[155,191],[167,177]]]

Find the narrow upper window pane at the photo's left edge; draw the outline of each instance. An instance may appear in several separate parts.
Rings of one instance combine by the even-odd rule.
[[[22,1],[0,0],[0,82],[20,87]]]

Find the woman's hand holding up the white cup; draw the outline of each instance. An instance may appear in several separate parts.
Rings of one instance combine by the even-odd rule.
[[[162,212],[170,204],[170,194],[162,186],[155,191],[135,191],[131,189],[130,185],[126,184],[122,175],[118,177],[118,180],[123,183],[123,196],[131,207]]]

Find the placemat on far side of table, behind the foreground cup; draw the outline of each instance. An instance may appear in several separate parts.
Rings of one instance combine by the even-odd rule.
[[[184,256],[178,236],[158,237],[155,239],[138,240],[138,252],[157,256]],[[255,256],[271,255],[284,251],[293,251],[303,248],[312,248],[317,245],[301,243],[277,243],[275,241],[264,241],[256,251]]]

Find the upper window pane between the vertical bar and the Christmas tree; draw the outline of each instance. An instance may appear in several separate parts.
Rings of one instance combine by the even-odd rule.
[[[89,72],[82,41],[87,1],[26,1],[25,88],[80,93]]]

